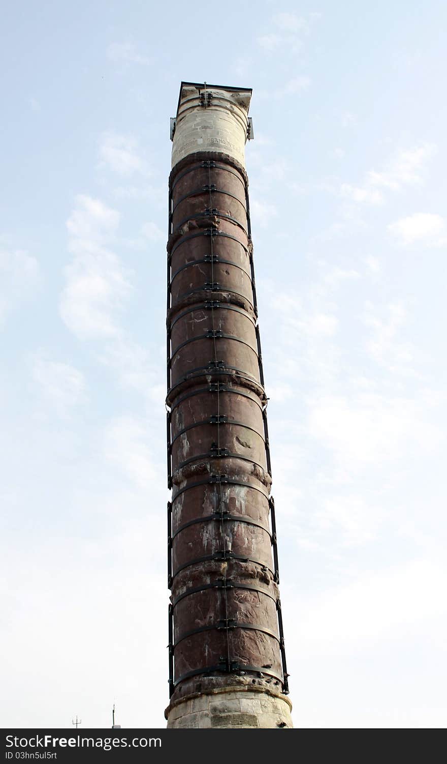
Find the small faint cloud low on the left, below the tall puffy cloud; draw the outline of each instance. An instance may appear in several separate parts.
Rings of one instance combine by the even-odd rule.
[[[53,361],[40,352],[33,359],[33,379],[60,416],[67,416],[73,406],[85,401],[85,379],[71,364]]]

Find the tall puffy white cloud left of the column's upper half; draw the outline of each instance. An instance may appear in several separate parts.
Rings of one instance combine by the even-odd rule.
[[[119,258],[105,247],[120,215],[89,196],[78,196],[76,202],[67,221],[73,259],[65,269],[60,315],[79,338],[114,337],[120,334],[117,312],[130,291]]]

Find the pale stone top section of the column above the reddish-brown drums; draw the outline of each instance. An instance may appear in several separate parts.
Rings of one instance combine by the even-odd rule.
[[[220,151],[245,167],[250,97],[248,89],[184,84],[172,140],[172,167],[196,151]]]

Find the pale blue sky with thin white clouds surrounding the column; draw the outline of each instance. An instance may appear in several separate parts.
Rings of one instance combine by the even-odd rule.
[[[162,727],[169,117],[247,144],[296,727],[445,726],[443,2],[3,11],[4,727]]]

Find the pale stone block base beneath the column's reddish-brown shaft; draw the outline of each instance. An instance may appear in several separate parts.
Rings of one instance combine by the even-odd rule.
[[[221,687],[166,708],[168,730],[292,729],[291,701],[259,688]]]

